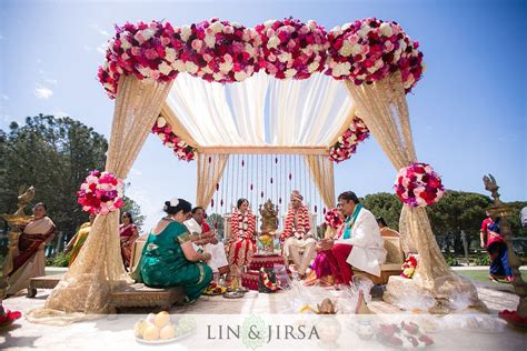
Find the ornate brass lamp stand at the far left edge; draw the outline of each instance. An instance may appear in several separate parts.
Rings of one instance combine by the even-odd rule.
[[[23,209],[28,205],[31,200],[34,198],[34,188],[29,187],[26,192],[22,192],[20,189],[20,195],[18,197],[18,210],[14,214],[2,213],[0,217],[8,222],[11,230],[9,231],[9,248],[8,254],[4,258],[1,277],[0,277],[0,319],[6,315],[6,311],[2,307],[2,300],[6,299],[8,294],[9,283],[8,275],[13,269],[13,259],[18,255],[18,239],[22,234],[20,228],[28,224],[28,222],[33,218],[32,215],[26,215]]]

